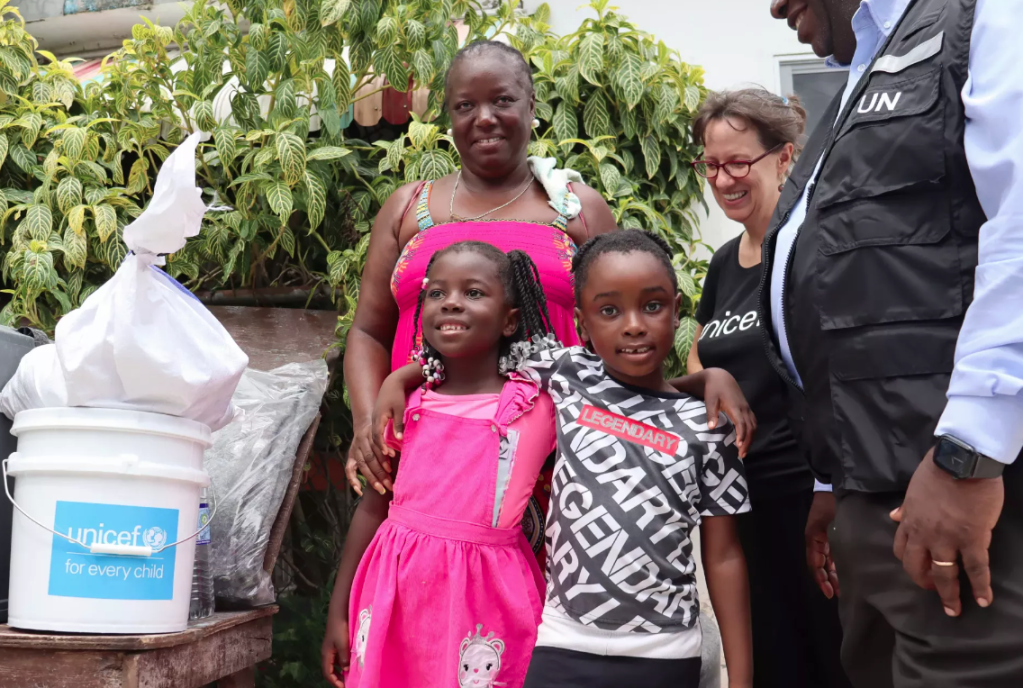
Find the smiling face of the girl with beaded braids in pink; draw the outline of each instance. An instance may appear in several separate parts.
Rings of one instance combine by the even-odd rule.
[[[437,258],[422,302],[422,333],[446,359],[496,351],[515,334],[519,312],[507,303],[497,265],[471,250]]]

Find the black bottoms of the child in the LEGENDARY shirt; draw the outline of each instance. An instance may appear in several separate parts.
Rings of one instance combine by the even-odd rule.
[[[608,657],[555,647],[533,648],[524,688],[700,688],[700,657]]]

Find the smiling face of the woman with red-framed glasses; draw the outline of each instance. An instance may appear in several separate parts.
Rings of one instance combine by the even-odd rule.
[[[750,124],[725,118],[707,125],[704,134],[703,157],[712,163],[752,160],[764,153],[757,131]],[[742,179],[732,178],[725,170],[707,180],[714,191],[714,199],[729,220],[743,224],[751,220],[768,220],[781,195],[779,185],[785,181],[785,172],[792,159],[790,146],[771,153],[750,168]]]

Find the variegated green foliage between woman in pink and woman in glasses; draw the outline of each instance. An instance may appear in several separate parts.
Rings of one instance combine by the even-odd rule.
[[[589,6],[596,16],[570,36],[551,34],[546,5],[510,36],[533,64],[537,116],[546,123],[531,149],[580,172],[619,226],[656,231],[675,248],[684,312],[669,373],[678,374],[707,269],[695,259],[703,188],[690,167],[700,152],[692,121],[705,95],[703,70],[682,62],[608,0]]]

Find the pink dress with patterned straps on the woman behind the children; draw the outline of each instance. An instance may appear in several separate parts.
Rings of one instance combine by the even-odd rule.
[[[398,304],[398,329],[391,349],[391,369],[407,364],[412,349],[421,341],[412,341],[415,331],[415,303],[422,287],[430,257],[441,248],[458,241],[486,241],[501,250],[524,250],[536,264],[540,283],[547,296],[554,334],[565,346],[579,342],[575,325],[575,296],[572,292],[572,257],[576,244],[565,228],[568,219],[559,215],[549,225],[515,220],[477,220],[434,224],[430,215],[430,194],[434,183],[422,185],[415,204],[419,225],[398,258],[391,276],[391,293]],[[571,190],[571,186],[570,186]],[[582,215],[580,219],[585,223]],[[550,499],[550,471],[544,471],[523,516],[523,530],[540,568],[544,564],[543,529]]]

